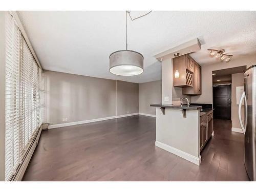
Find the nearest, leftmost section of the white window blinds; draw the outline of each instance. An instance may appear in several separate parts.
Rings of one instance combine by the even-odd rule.
[[[13,18],[6,15],[6,134],[5,178],[19,164],[19,29]]]

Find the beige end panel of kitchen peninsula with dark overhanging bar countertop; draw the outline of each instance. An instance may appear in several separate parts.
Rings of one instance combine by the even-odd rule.
[[[200,165],[202,106],[163,103],[151,106],[156,107],[156,146]]]

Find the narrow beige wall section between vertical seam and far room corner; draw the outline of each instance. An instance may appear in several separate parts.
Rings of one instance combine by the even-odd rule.
[[[139,84],[117,81],[117,115],[139,112]]]

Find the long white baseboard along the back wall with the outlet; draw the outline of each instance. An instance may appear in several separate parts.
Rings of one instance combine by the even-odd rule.
[[[131,114],[125,114],[125,115],[103,117],[103,118],[98,118],[98,119],[75,121],[75,122],[69,122],[69,123],[52,124],[52,125],[48,126],[48,129],[54,129],[54,128],[58,128],[58,127],[65,127],[65,126],[71,126],[71,125],[77,125],[77,124],[92,123],[92,122],[104,121],[104,120],[109,120],[109,119],[116,119],[116,118],[121,118],[121,117],[129,117],[129,116],[133,116],[133,115],[139,115],[139,113],[131,113]]]

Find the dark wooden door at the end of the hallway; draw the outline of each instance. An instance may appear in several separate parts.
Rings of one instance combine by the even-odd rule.
[[[231,120],[231,85],[214,87],[214,118]]]

